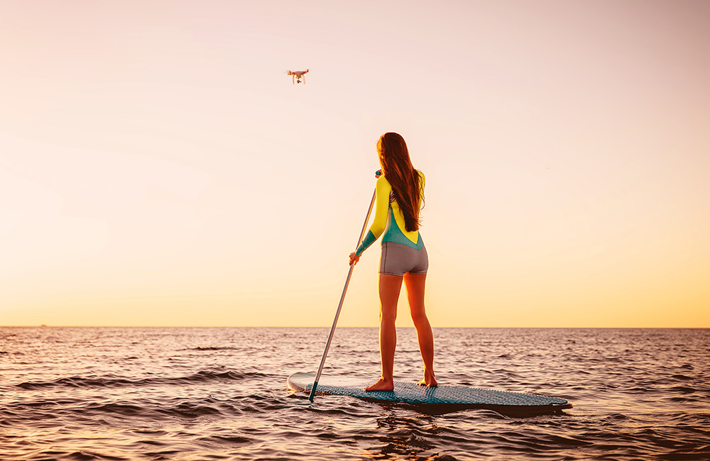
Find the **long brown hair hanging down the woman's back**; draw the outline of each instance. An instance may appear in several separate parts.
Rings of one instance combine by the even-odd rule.
[[[412,166],[409,150],[404,138],[398,133],[385,133],[377,142],[382,174],[392,186],[395,200],[404,214],[408,232],[419,230],[420,202],[424,201],[424,191],[420,186],[419,172]]]

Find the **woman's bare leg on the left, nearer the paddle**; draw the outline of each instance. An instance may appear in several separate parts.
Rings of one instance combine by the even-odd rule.
[[[397,346],[397,301],[402,289],[402,277],[380,274],[380,360],[382,376],[366,391],[391,391],[395,387],[393,368]]]

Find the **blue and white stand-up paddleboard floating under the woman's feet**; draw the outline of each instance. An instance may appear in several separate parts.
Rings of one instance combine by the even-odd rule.
[[[288,387],[293,391],[310,392],[315,374],[295,373],[288,377]],[[360,399],[484,408],[501,413],[555,413],[572,408],[564,399],[539,394],[474,389],[463,386],[420,386],[414,382],[395,381],[394,391],[371,391],[364,388],[371,381],[348,377],[321,376],[316,394],[335,394],[358,397]]]

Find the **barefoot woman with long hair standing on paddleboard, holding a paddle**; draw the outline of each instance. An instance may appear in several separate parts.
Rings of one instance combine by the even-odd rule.
[[[380,257],[380,357],[382,376],[366,391],[394,389],[393,364],[397,345],[397,301],[404,281],[409,308],[417,328],[419,349],[424,362],[424,379],[419,384],[436,386],[434,375],[434,335],[424,309],[424,286],[429,268],[427,249],[419,234],[419,211],[424,199],[425,178],[412,166],[404,138],[385,133],[377,142],[382,176],[376,185],[375,218],[350,265],[383,235]]]

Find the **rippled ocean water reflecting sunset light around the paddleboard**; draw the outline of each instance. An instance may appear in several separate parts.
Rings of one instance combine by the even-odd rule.
[[[440,384],[536,392],[562,414],[432,413],[294,394],[328,328],[0,328],[0,460],[710,460],[710,330],[435,328]],[[396,379],[418,380],[415,331]],[[326,374],[379,374],[339,328]]]

